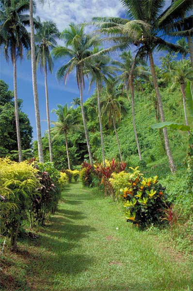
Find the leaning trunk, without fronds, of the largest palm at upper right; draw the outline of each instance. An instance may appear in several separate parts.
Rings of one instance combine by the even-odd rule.
[[[155,66],[154,66],[154,61],[153,61],[153,56],[152,56],[152,52],[151,51],[148,51],[148,56],[149,56],[151,75],[152,75],[153,84],[154,84],[154,88],[155,88],[155,92],[156,92],[156,97],[158,99],[161,122],[164,122],[165,121],[165,117],[164,117],[164,112],[163,112],[163,106],[162,106],[162,102],[161,102],[161,97],[160,97],[160,92],[159,92],[158,82],[157,82],[157,77],[156,77],[156,72],[155,72]],[[173,161],[173,157],[172,157],[172,153],[171,153],[171,150],[170,150],[169,140],[168,140],[168,135],[167,135],[167,129],[166,128],[163,128],[163,138],[164,138],[165,150],[166,150],[168,161],[169,161],[169,165],[170,165],[170,170],[171,170],[172,173],[174,173],[175,170],[176,170],[176,167],[175,167],[175,164],[174,164],[174,161]]]

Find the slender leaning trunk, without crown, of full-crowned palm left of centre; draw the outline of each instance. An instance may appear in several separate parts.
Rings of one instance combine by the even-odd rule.
[[[83,108],[83,101],[82,101],[82,76],[80,75],[80,72],[77,72],[78,74],[78,81],[79,81],[79,91],[80,91],[80,107],[81,107],[81,113],[82,113],[82,121],[84,125],[84,131],[85,131],[85,136],[86,136],[86,144],[88,147],[88,154],[89,154],[89,160],[90,164],[93,167],[93,157],[91,154],[91,148],[90,148],[90,143],[89,143],[89,137],[88,137],[88,131],[86,127],[86,120],[85,120],[85,115],[84,115],[84,108]]]

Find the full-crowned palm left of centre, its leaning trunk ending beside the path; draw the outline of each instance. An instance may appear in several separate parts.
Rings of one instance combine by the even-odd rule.
[[[52,53],[55,58],[64,57],[69,58],[69,61],[65,63],[62,67],[59,68],[57,72],[57,78],[61,79],[64,77],[64,83],[66,83],[67,76],[75,69],[77,84],[80,92],[80,107],[82,113],[82,120],[84,125],[84,131],[86,136],[86,143],[88,147],[88,154],[90,159],[90,164],[93,166],[93,158],[90,149],[88,131],[86,127],[83,100],[82,100],[82,90],[84,88],[84,74],[83,70],[85,64],[83,62],[84,58],[88,57],[91,52],[89,49],[92,49],[94,46],[99,44],[98,37],[89,36],[84,32],[84,25],[78,26],[74,23],[69,25],[69,29],[65,29],[61,33],[61,38],[65,42],[65,47],[58,46],[52,50]]]

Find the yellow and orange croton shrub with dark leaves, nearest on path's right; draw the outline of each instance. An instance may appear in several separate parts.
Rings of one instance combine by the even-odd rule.
[[[124,200],[127,221],[140,227],[161,224],[161,210],[169,206],[165,187],[158,176],[144,178],[138,167],[130,169],[131,173],[113,173],[109,179],[116,195]]]

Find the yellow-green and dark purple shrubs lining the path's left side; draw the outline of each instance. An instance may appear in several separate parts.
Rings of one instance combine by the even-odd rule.
[[[52,163],[0,159],[0,233],[9,234],[13,250],[24,220],[43,225],[61,195],[60,172]]]

